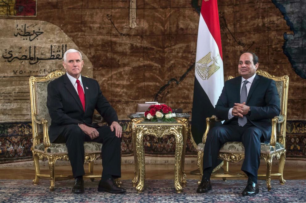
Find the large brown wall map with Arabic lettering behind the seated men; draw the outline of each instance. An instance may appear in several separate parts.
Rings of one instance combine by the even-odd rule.
[[[50,45],[58,48],[74,42],[92,63],[93,78],[100,83],[103,94],[118,111],[119,118],[127,118],[128,113],[135,112],[137,103],[155,99],[172,108],[191,112],[199,21],[197,9],[201,1],[133,2],[137,14],[135,28],[130,28],[130,0],[37,1],[37,17],[15,18],[14,22],[7,20],[12,17],[0,17],[4,28],[0,31],[1,52],[10,56],[3,50],[10,50],[4,46],[7,43],[22,45],[23,49],[39,43],[47,52]],[[302,40],[305,1],[299,2],[218,1],[224,78],[237,74],[237,61],[242,52],[255,52],[259,57],[259,69],[276,76],[289,75],[288,119],[306,119]],[[21,19],[49,22],[58,27],[47,31],[43,27],[34,28],[35,24]],[[40,28],[40,32],[47,33],[40,34],[31,42],[23,40],[20,35],[15,37],[17,29],[22,30],[21,26],[25,24],[33,24],[26,32],[35,30],[37,34]],[[7,62],[1,55],[2,83],[8,80],[4,78],[8,71],[14,74],[13,70],[20,71],[22,66],[18,66],[16,60],[14,65]],[[49,70],[60,66],[60,60],[53,64],[52,60],[49,62]],[[85,65],[90,66],[88,62]],[[12,82],[4,86],[10,86],[6,87],[7,90],[11,88],[10,92],[16,92],[14,89],[20,85]],[[7,99],[14,101],[15,98],[5,95],[1,103],[12,103]],[[23,99],[21,106],[29,102],[29,95],[24,95]],[[3,117],[0,120],[6,121]],[[28,116],[21,119],[25,120],[30,119]]]

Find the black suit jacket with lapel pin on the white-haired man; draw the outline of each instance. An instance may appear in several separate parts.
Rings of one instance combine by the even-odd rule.
[[[94,79],[81,77],[85,92],[85,112],[67,74],[48,84],[47,107],[51,117],[49,128],[51,142],[55,141],[69,124],[84,123],[90,127],[98,127],[92,123],[95,109],[109,125],[113,121],[118,121],[117,113],[102,95],[99,83]]]

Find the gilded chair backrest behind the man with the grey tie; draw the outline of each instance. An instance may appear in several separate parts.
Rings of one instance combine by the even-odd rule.
[[[275,81],[277,92],[279,94],[280,99],[280,115],[284,117],[285,121],[278,125],[277,127],[277,137],[279,142],[285,145],[285,137],[286,137],[286,118],[287,118],[287,101],[288,101],[288,85],[289,85],[289,77],[284,75],[282,77],[276,77],[274,75],[270,75],[266,71],[257,70],[256,74],[264,76],[266,78],[270,78]],[[233,76],[229,76],[228,79],[234,78]]]

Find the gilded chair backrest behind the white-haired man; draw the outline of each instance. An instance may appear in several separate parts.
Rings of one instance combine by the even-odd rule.
[[[51,125],[51,118],[47,109],[47,86],[52,80],[64,75],[65,72],[56,70],[45,77],[31,76],[30,82],[30,100],[31,100],[31,117],[33,131],[33,145],[40,143],[39,139],[43,137],[42,125],[37,125],[34,119],[48,121],[48,129]]]

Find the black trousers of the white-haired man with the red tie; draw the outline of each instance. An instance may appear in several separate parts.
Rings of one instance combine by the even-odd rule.
[[[73,177],[82,176],[84,171],[84,142],[102,143],[102,176],[121,177],[121,138],[116,137],[109,126],[97,128],[99,136],[93,140],[78,125],[66,125],[54,143],[66,143]]]

